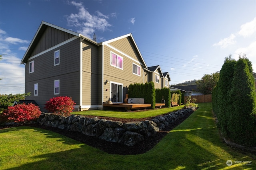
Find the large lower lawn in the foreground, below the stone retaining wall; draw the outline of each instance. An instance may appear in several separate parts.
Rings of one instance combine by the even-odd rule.
[[[0,130],[0,170],[254,170],[256,156],[228,147],[220,138],[211,103],[199,104],[182,124],[150,151],[107,154],[62,135],[32,127]],[[226,161],[252,161],[251,165]]]

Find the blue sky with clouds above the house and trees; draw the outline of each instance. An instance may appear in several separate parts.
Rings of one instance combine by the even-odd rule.
[[[20,61],[41,21],[97,42],[132,33],[171,84],[220,71],[230,54],[256,72],[256,0],[0,0],[0,94],[24,93]]]

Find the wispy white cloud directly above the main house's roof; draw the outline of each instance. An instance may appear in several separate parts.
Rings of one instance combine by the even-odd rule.
[[[86,37],[92,38],[96,30],[106,31],[112,26],[107,21],[109,16],[102,14],[100,11],[96,11],[96,15],[92,15],[84,8],[82,2],[72,1],[70,4],[76,6],[78,14],[67,16],[68,25],[76,27],[77,31]],[[110,16],[116,17],[116,14],[112,13]]]

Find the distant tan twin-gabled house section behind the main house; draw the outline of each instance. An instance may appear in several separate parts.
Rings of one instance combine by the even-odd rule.
[[[148,78],[148,82],[154,82],[155,88],[169,87],[169,83],[171,81],[170,75],[168,72],[163,73],[159,65],[150,66],[145,69],[145,72]]]

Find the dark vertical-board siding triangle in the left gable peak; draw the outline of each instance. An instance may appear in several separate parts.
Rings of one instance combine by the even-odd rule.
[[[55,45],[58,45],[74,36],[75,35],[72,35],[70,33],[47,26],[44,30],[44,33],[41,35],[40,40],[34,47],[34,51],[32,52],[31,56],[34,56],[38,53],[41,53],[42,51],[54,47]]]

